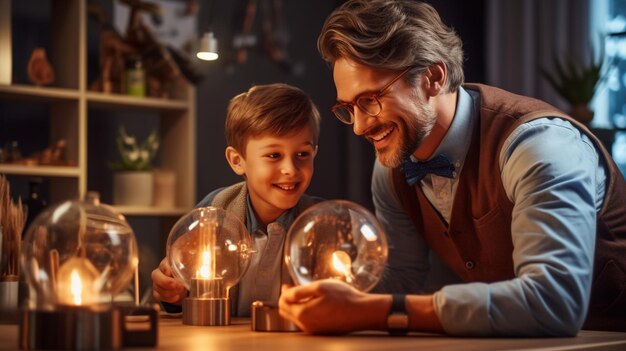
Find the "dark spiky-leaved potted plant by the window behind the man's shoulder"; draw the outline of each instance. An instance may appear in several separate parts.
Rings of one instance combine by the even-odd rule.
[[[554,69],[540,69],[550,86],[570,104],[570,116],[584,124],[593,119],[589,102],[602,80],[603,61],[603,55],[600,55],[597,62],[584,65],[577,62],[574,56],[563,59],[554,55]]]

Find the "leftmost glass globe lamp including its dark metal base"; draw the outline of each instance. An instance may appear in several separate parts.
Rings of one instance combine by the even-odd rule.
[[[50,206],[27,228],[20,262],[29,286],[22,348],[120,346],[112,301],[138,265],[123,215],[96,193]]]

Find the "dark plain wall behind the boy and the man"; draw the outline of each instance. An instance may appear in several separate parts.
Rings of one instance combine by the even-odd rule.
[[[260,1],[262,2],[262,1]],[[308,92],[322,113],[322,132],[315,174],[309,193],[328,199],[344,198],[371,207],[370,177],[374,161],[372,146],[357,138],[352,129],[336,120],[329,108],[335,101],[332,72],[319,57],[317,35],[330,12],[343,1],[283,1],[283,19],[289,33],[287,51],[300,74],[290,73],[272,62],[258,49],[249,50],[245,64],[233,65],[228,48],[237,21],[234,17],[242,1],[217,2],[211,19],[208,6],[201,9],[199,29],[213,21],[220,40],[220,59],[205,63],[206,78],[197,86],[197,197],[225,186],[238,178],[224,158],[224,118],[228,101],[253,84],[284,82]],[[484,1],[439,0],[431,3],[446,23],[461,35],[466,49],[468,81],[484,80],[483,19]],[[255,33],[260,35],[260,14]],[[477,25],[478,24],[478,25]]]

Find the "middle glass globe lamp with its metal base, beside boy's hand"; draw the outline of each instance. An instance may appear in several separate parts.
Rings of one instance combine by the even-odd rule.
[[[245,225],[221,208],[196,208],[176,222],[167,239],[167,257],[189,290],[183,300],[184,324],[230,323],[229,290],[248,269],[251,249]]]

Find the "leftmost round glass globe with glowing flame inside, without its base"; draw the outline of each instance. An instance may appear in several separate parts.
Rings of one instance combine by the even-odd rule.
[[[40,213],[26,231],[20,259],[34,292],[31,307],[45,309],[109,303],[139,262],[132,228],[94,193]]]

